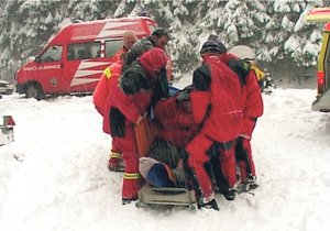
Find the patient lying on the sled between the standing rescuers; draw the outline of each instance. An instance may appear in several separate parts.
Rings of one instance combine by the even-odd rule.
[[[198,132],[194,123],[189,92],[191,86],[161,100],[154,108],[160,130],[148,157],[140,158],[141,175],[155,187],[186,187],[183,160],[185,147]]]

